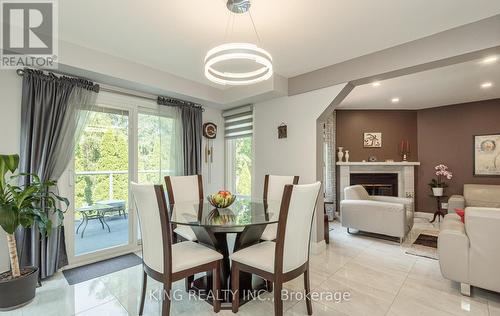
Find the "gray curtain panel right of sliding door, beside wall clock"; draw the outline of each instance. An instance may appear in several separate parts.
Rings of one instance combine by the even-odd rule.
[[[203,108],[196,103],[166,97],[158,97],[158,104],[180,107],[184,175],[201,174]]]

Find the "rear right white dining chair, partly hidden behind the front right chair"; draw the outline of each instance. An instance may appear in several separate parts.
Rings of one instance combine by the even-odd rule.
[[[283,196],[283,190],[287,184],[298,184],[298,176],[275,176],[266,174],[264,177],[264,203],[266,206],[269,205],[268,201],[273,201],[278,209],[271,210],[272,216],[275,219],[279,218],[279,207],[281,205],[281,198]],[[276,239],[276,232],[278,230],[278,224],[267,225],[260,237],[264,241],[273,241]]]

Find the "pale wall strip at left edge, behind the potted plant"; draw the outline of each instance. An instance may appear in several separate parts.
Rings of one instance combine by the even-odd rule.
[[[14,70],[0,70],[0,154],[19,153],[21,78]],[[9,269],[7,241],[0,229],[0,272]]]

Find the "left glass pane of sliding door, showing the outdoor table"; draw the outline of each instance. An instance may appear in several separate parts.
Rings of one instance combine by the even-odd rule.
[[[75,150],[75,256],[129,244],[129,113],[90,114]]]

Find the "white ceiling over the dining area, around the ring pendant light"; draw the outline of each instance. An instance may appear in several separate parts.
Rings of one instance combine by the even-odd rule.
[[[60,39],[204,84],[228,18],[224,0],[60,1],[59,11]],[[251,12],[289,78],[499,14],[500,1],[253,0]],[[248,15],[229,40],[257,41]]]

